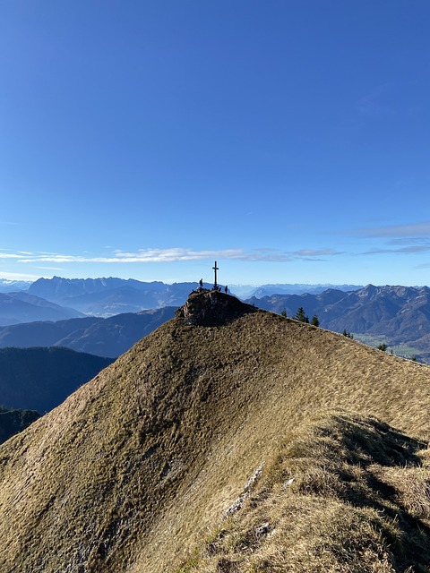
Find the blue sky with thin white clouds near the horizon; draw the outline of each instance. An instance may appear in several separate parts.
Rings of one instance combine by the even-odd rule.
[[[428,0],[2,0],[0,278],[430,284]]]

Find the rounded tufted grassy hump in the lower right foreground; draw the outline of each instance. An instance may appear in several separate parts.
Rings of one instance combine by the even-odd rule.
[[[428,571],[430,452],[374,418],[321,413],[177,573]]]

